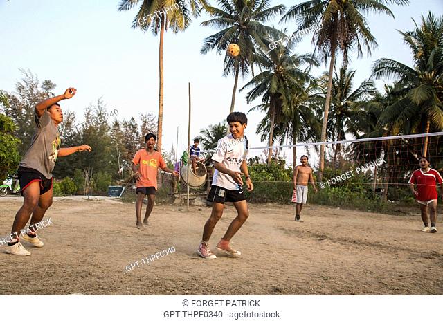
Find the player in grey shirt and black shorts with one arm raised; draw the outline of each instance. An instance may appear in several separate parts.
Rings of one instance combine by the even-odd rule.
[[[37,237],[36,228],[48,208],[53,203],[53,169],[57,157],[68,156],[76,151],[91,151],[88,145],[60,148],[60,133],[57,125],[63,122],[60,100],[70,99],[77,90],[69,88],[64,94],[48,98],[35,106],[35,133],[30,147],[19,165],[19,181],[23,205],[15,215],[6,253],[28,256],[30,252],[21,245],[19,237],[35,247],[43,247],[44,243]],[[24,230],[30,215],[30,225]]]

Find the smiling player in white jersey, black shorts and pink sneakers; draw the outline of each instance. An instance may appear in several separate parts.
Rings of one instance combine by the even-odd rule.
[[[205,259],[216,259],[209,249],[209,239],[215,225],[223,215],[224,203],[232,202],[237,217],[230,223],[228,230],[217,244],[217,250],[232,257],[239,257],[242,253],[230,247],[230,239],[242,227],[248,219],[248,204],[243,192],[242,173],[246,176],[248,191],[253,190],[253,184],[249,177],[248,164],[248,140],[244,137],[244,129],[248,123],[248,118],[242,112],[230,113],[226,118],[229,124],[230,135],[221,138],[217,143],[217,149],[212,157],[214,160],[215,173],[213,185],[208,194],[208,201],[213,203],[213,211],[204,226],[203,237],[198,254]]]

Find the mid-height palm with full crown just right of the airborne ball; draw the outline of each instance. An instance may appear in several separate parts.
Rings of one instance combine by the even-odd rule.
[[[246,94],[246,102],[262,97],[262,104],[257,109],[267,109],[269,120],[269,154],[268,164],[271,163],[272,145],[274,139],[275,121],[281,122],[284,115],[290,115],[295,107],[294,95],[305,90],[306,82],[311,81],[307,71],[300,67],[304,64],[318,66],[316,59],[310,54],[291,54],[296,41],[288,41],[286,46],[278,44],[268,53],[260,52],[255,60],[263,69],[262,73],[253,77],[240,91],[253,86]],[[254,109],[254,108],[253,108]],[[257,128],[257,131],[260,131]]]

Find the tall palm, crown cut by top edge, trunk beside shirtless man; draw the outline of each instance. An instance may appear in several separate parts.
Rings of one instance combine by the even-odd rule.
[[[331,101],[332,77],[337,52],[342,53],[343,63],[347,65],[348,54],[356,48],[358,56],[363,50],[370,55],[371,48],[377,46],[374,36],[370,33],[363,13],[383,12],[394,17],[384,3],[397,5],[408,4],[408,0],[309,0],[292,6],[282,17],[282,21],[295,19],[300,22],[296,33],[312,30],[312,39],[316,53],[327,64],[329,58],[329,77],[321,131],[322,142],[326,141],[329,103]],[[320,25],[321,23],[321,25]],[[320,179],[325,165],[325,145],[320,145]]]

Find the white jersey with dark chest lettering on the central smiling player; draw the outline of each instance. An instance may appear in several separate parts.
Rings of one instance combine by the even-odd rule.
[[[240,165],[248,156],[248,139],[246,137],[234,139],[232,134],[221,138],[217,142],[217,149],[212,160],[223,163],[223,165],[233,171],[240,172]],[[224,187],[226,190],[239,190],[239,184],[235,183],[232,177],[215,169],[213,185]]]

